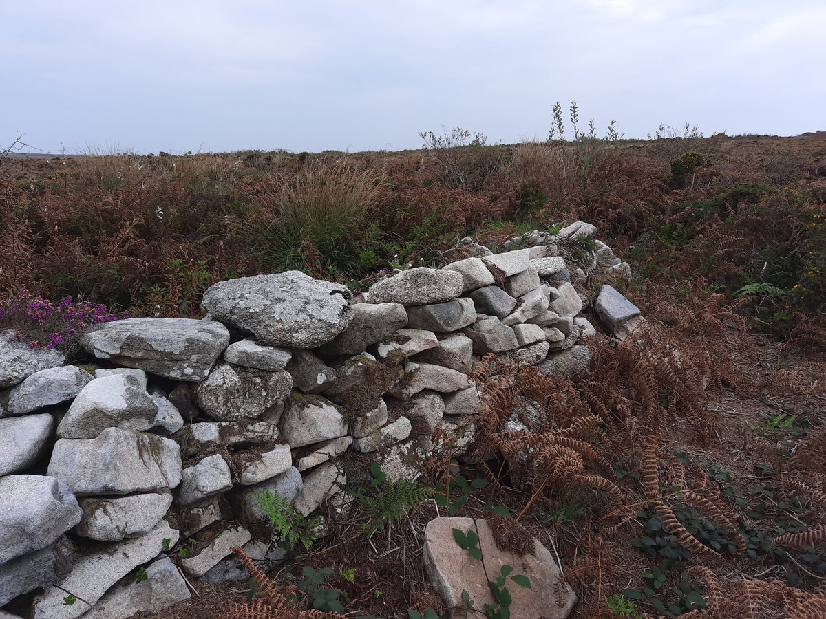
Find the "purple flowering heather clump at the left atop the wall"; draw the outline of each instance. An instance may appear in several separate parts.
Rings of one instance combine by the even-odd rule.
[[[13,340],[64,352],[73,350],[88,328],[125,318],[129,312],[114,312],[106,305],[71,296],[53,303],[25,290],[0,304],[0,329],[11,330]]]

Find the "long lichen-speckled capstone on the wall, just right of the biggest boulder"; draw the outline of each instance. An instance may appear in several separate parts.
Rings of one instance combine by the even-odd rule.
[[[396,273],[370,286],[370,303],[425,305],[442,303],[462,294],[461,273],[417,267]]]

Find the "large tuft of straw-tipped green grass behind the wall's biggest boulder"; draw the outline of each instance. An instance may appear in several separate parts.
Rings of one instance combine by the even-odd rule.
[[[295,177],[270,179],[253,196],[249,234],[272,271],[349,273],[367,249],[380,178],[371,169],[309,163]]]

